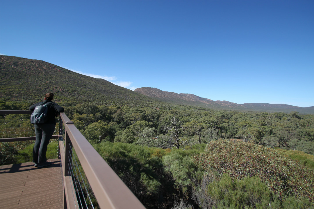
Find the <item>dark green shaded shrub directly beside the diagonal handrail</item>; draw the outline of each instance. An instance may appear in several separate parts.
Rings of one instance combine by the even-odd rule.
[[[165,183],[159,156],[152,155],[148,147],[135,144],[107,141],[93,146],[135,196],[145,200],[146,207],[159,201],[158,192]]]

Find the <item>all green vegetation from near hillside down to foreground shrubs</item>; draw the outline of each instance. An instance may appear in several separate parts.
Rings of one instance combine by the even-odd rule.
[[[174,105],[39,60],[2,63],[0,109],[28,110],[53,89],[147,208],[314,207],[314,115]],[[27,136],[29,115],[0,116],[0,138]],[[30,158],[30,143],[2,143],[0,163]]]

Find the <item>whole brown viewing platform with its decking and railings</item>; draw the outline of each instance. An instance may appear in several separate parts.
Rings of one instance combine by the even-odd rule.
[[[0,110],[0,114],[31,111]],[[52,138],[57,139],[58,158],[47,160],[52,165],[0,166],[1,209],[145,209],[64,113],[60,113],[59,135]],[[0,138],[0,143],[29,140],[35,137]]]

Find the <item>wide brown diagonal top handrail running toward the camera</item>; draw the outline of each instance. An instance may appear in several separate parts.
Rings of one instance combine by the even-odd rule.
[[[64,113],[60,114],[60,118],[66,132],[64,148],[66,154],[61,157],[61,159],[63,158],[62,161],[65,162],[64,175],[66,176],[65,171],[70,169],[67,167],[67,160],[68,153],[71,152],[70,146],[73,146],[100,208],[144,209],[142,203],[79,132],[73,122]],[[63,145],[61,141],[60,144]],[[60,153],[63,149],[62,145],[60,146]]]

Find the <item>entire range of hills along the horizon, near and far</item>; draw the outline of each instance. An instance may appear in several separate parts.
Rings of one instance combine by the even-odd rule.
[[[95,104],[135,105],[152,102],[208,107],[217,110],[300,112],[314,114],[313,107],[285,104],[213,101],[194,94],[177,94],[156,88],[142,87],[135,91],[99,78],[84,76],[41,60],[0,55],[0,100],[35,103],[47,92],[55,93],[55,101],[64,105],[81,102]]]

